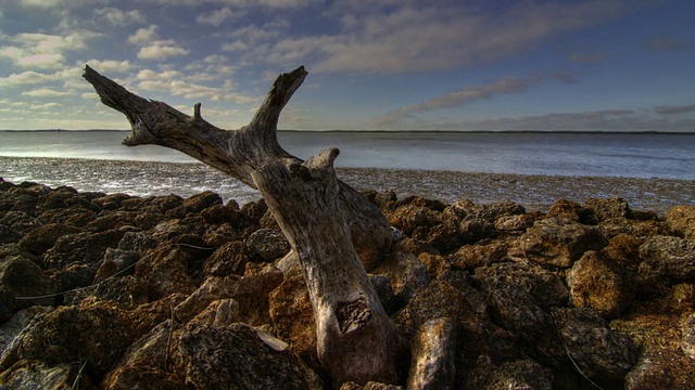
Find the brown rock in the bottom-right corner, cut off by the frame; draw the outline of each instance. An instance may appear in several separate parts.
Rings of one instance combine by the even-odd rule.
[[[626,376],[626,390],[691,390],[695,361],[679,351],[658,346],[643,348],[637,363]]]

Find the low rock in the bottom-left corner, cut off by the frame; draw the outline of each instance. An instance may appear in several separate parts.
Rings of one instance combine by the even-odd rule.
[[[37,361],[22,361],[0,373],[0,388],[13,389],[97,389],[87,375],[80,375],[79,362],[48,365]]]

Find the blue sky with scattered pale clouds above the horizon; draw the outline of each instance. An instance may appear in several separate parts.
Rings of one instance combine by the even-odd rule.
[[[692,0],[0,0],[0,129],[129,129],[85,64],[224,129],[695,131]]]

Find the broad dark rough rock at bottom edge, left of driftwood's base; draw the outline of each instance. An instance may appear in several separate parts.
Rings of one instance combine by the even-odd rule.
[[[187,327],[179,353],[186,380],[198,389],[316,388],[314,375],[289,349],[276,351],[249,325]]]

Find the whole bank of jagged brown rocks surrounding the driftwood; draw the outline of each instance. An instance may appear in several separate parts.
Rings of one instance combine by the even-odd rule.
[[[405,236],[369,271],[399,386],[693,388],[695,206],[365,195]],[[289,249],[262,200],[0,180],[0,387],[330,389]]]

